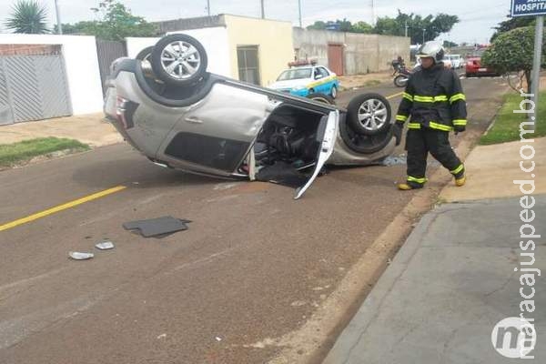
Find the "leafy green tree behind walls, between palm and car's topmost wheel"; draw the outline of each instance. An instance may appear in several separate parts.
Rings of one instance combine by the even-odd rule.
[[[116,41],[127,36],[157,35],[155,25],[147,23],[141,16],[132,15],[131,10],[119,0],[103,0],[91,10],[99,20],[63,25],[63,33],[95,35],[100,39]]]

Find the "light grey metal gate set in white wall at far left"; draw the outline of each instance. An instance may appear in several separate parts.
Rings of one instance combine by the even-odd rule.
[[[61,55],[0,56],[0,125],[70,115]]]

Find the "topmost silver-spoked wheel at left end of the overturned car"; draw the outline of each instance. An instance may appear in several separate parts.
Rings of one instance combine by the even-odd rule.
[[[161,38],[152,51],[152,69],[173,86],[188,86],[205,76],[207,52],[196,38],[175,34]]]

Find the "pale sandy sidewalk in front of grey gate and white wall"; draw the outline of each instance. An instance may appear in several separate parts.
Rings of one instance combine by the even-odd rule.
[[[103,120],[104,114],[57,117],[0,126],[0,144],[11,144],[36,137],[56,136],[79,140],[90,147],[120,143],[116,128]]]

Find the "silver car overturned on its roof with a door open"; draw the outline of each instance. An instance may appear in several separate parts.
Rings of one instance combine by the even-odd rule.
[[[329,96],[290,96],[207,72],[189,35],[167,35],[106,81],[106,118],[154,163],[216,177],[297,187],[324,165],[369,165],[392,153],[389,102],[359,95],[347,109]]]

